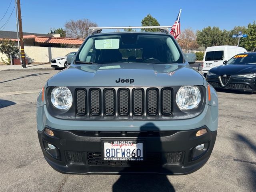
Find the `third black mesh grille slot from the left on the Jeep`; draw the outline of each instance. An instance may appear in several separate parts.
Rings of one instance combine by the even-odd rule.
[[[104,110],[106,115],[114,115],[115,113],[115,92],[113,89],[107,89],[104,92]]]

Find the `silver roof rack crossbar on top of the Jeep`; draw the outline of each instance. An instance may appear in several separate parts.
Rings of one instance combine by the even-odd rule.
[[[100,33],[102,29],[148,29],[148,28],[159,28],[161,32],[168,33],[168,28],[172,28],[172,26],[126,26],[126,27],[89,27],[92,29],[92,34]]]

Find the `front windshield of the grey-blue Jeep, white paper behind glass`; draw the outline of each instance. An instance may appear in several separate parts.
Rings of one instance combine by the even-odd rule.
[[[165,34],[106,34],[91,36],[80,49],[76,63],[116,62],[183,63],[174,40]]]

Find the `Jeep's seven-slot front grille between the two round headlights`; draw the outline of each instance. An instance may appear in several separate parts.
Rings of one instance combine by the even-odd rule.
[[[88,96],[87,96],[88,93]],[[88,97],[88,98],[87,98]],[[171,116],[173,89],[76,88],[76,114],[82,118],[154,118]]]

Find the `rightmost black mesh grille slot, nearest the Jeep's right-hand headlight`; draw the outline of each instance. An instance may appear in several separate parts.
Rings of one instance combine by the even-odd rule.
[[[170,115],[172,113],[172,90],[163,89],[162,90],[162,114]]]

